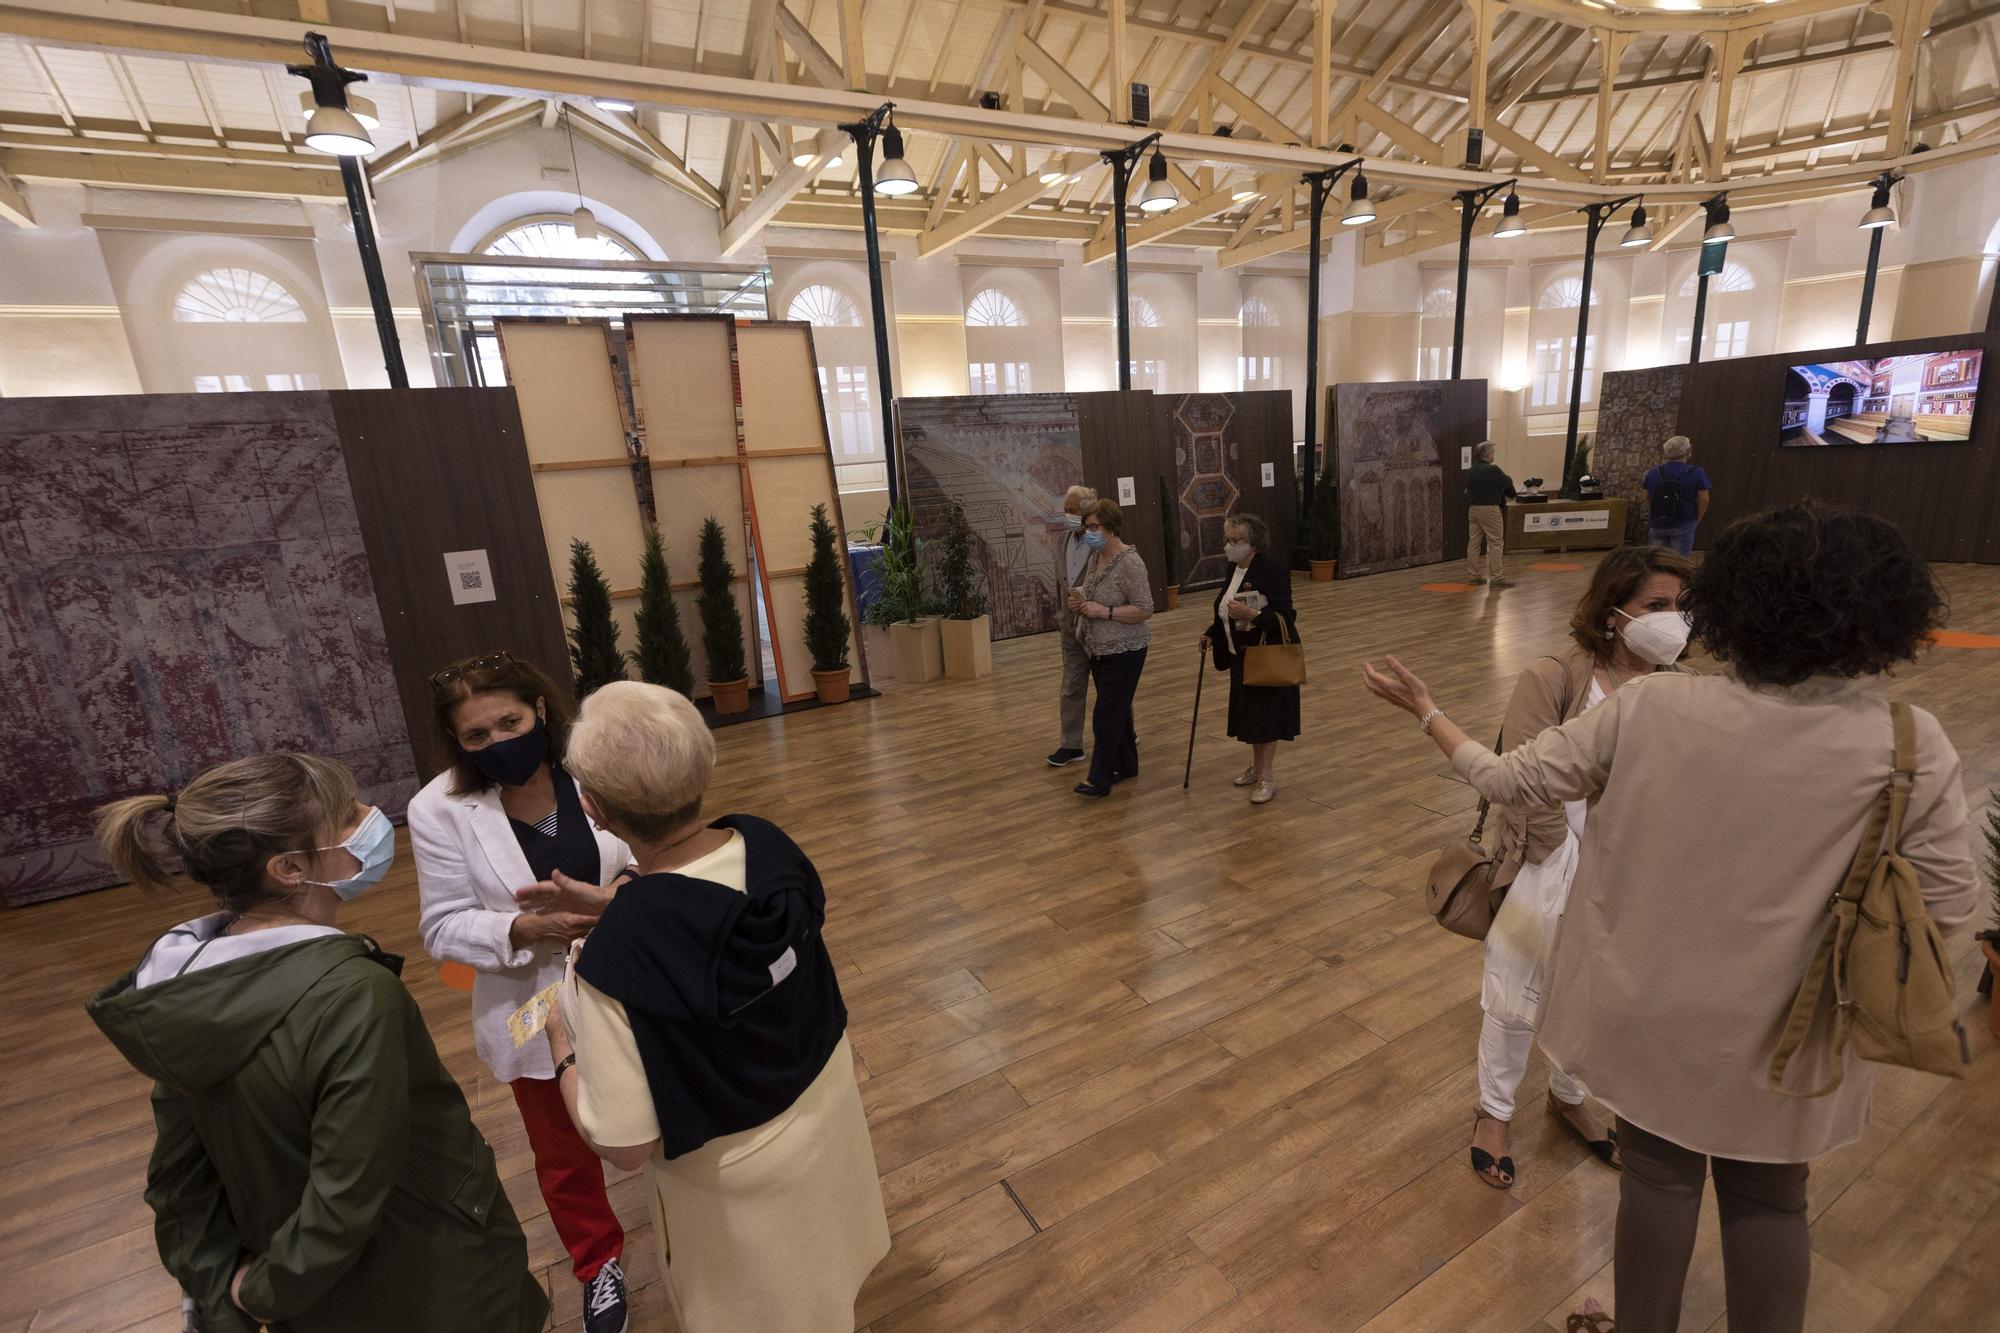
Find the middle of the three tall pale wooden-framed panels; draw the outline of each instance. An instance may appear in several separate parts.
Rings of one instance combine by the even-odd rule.
[[[720,314],[648,314],[626,320],[626,370],[632,380],[632,428],[652,468],[652,506],[680,606],[680,630],[694,660],[694,693],[708,695],[702,646],[702,524],[722,524],[722,544],[736,570],[736,608],[744,622],[744,662],[752,685],[762,677],[756,598],[750,592],[750,546],[744,540],[740,418],[730,318]]]

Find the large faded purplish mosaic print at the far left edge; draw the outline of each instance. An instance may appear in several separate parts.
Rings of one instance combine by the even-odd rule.
[[[268,751],[416,791],[326,394],[0,402],[0,901],[118,883],[92,811]]]

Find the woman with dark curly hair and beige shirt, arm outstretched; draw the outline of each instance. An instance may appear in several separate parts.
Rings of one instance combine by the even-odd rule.
[[[1416,715],[1480,795],[1590,801],[1556,937],[1542,1045],[1618,1115],[1616,1315],[1622,1333],[1680,1323],[1704,1175],[1716,1179],[1734,1333],[1798,1333],[1812,1241],[1806,1171],[1868,1125],[1874,1069],[1826,1025],[1766,1075],[1868,811],[1890,779],[1890,709],[1866,681],[1912,660],[1942,618],[1930,568],[1888,522],[1788,506],[1734,524],[1688,592],[1694,634],[1728,675],[1658,675],[1494,755],[1402,662],[1364,669]],[[1914,711],[1916,781],[1902,855],[1932,921],[1972,915],[1960,763]],[[1602,1333],[1598,1311],[1570,1319]]]

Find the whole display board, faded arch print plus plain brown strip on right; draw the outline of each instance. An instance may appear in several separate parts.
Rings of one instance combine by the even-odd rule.
[[[1464,450],[1486,438],[1486,380],[1334,384],[1326,420],[1342,578],[1464,552]]]

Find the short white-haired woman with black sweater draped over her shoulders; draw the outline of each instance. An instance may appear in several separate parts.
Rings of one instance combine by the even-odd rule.
[[[646,1167],[688,1333],[848,1333],[888,1253],[848,1011],[812,861],[750,815],[702,823],[716,745],[658,685],[584,701],[564,767],[632,849],[550,1013],[556,1081],[610,1163]]]

